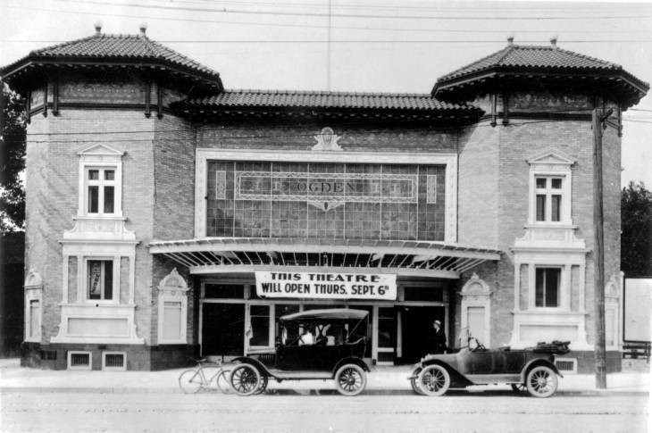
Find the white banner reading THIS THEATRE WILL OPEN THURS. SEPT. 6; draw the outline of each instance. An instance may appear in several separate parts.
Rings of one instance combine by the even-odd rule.
[[[347,272],[256,271],[255,292],[261,297],[395,301],[397,276]]]

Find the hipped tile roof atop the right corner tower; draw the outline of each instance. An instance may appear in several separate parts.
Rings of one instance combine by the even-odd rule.
[[[476,62],[450,72],[438,81],[456,79],[474,72],[496,67],[506,68],[545,68],[575,70],[622,70],[619,64],[574,53],[556,46],[506,46],[496,53],[489,54]]]

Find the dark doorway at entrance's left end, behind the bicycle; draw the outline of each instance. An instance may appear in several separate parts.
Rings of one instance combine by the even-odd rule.
[[[245,304],[202,306],[202,356],[241,356],[245,352]]]

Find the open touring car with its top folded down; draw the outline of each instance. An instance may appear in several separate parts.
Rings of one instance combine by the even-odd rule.
[[[443,396],[450,388],[509,384],[515,392],[549,397],[555,394],[557,376],[563,377],[555,355],[568,352],[568,342],[539,343],[522,350],[486,349],[469,337],[466,346],[453,353],[423,357],[408,379],[414,392],[425,396]]]

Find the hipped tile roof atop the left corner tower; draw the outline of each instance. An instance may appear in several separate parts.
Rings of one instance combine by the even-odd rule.
[[[158,62],[181,71],[197,73],[207,79],[220,79],[217,71],[196,62],[183,54],[163,46],[145,35],[107,35],[96,33],[91,37],[64,42],[54,46],[47,46],[31,51],[27,56],[17,62],[5,66],[0,71],[7,73],[13,70],[13,66],[30,59],[66,60],[79,61],[126,61],[126,62]]]

